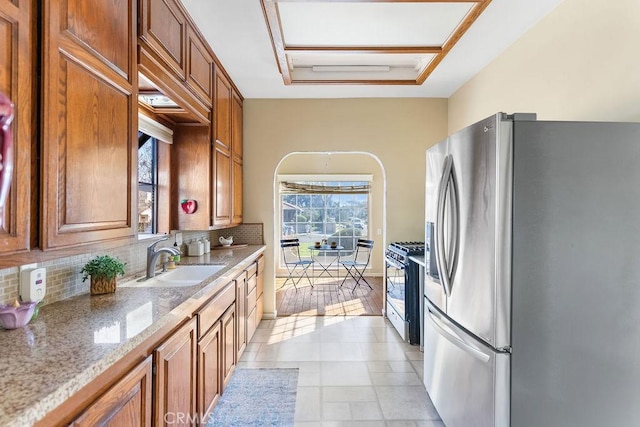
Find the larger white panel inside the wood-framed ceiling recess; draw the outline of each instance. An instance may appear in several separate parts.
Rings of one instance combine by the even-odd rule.
[[[474,4],[278,2],[278,11],[287,46],[441,46]]]

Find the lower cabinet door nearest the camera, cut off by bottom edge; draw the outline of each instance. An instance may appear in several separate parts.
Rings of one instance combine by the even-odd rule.
[[[151,356],[93,402],[71,425],[151,426]]]

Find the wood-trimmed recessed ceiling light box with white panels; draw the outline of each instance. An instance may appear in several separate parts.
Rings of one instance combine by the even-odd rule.
[[[421,85],[491,0],[260,0],[285,85]]]

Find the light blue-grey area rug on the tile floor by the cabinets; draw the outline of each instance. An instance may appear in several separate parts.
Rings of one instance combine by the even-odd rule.
[[[293,426],[298,369],[236,369],[207,427]]]

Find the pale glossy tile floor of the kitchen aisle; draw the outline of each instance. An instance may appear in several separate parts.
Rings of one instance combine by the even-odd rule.
[[[380,316],[263,320],[238,366],[299,368],[296,426],[444,427],[420,349]]]

